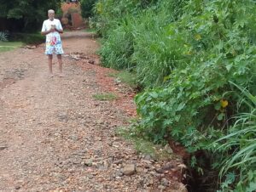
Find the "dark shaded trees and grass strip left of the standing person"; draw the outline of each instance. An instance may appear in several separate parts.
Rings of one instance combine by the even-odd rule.
[[[47,19],[49,8],[55,9],[56,16],[61,13],[61,0],[3,1],[0,6],[0,51],[9,51],[24,44],[39,44],[45,37],[35,32],[41,29]],[[27,33],[30,31],[32,33]],[[21,33],[22,32],[22,33]],[[3,44],[3,42],[7,42]]]

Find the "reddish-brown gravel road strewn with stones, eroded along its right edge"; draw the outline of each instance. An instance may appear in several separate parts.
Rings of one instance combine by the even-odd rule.
[[[116,134],[136,116],[134,92],[98,65],[93,35],[62,40],[64,77],[47,76],[44,45],[0,54],[0,191],[186,191],[179,158]],[[118,98],[93,97],[107,92]]]

